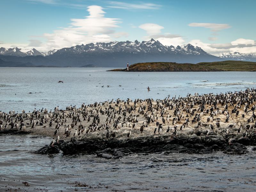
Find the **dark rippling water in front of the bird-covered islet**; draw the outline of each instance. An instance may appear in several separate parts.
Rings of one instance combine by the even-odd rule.
[[[255,191],[256,154],[151,154],[106,160],[33,154],[51,139],[1,136],[0,191]],[[30,186],[22,184],[27,181]],[[81,184],[78,184],[78,183]],[[20,190],[18,190],[20,191]]]

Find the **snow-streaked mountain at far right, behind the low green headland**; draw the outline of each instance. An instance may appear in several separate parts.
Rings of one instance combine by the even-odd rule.
[[[219,55],[220,58],[227,58],[230,60],[242,60],[242,61],[256,61],[256,53],[222,53]]]

